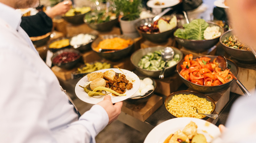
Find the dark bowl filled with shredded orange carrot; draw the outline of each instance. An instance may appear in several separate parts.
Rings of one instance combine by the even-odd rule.
[[[134,41],[123,35],[102,35],[91,45],[101,57],[108,60],[118,60],[130,55],[134,49]]]

